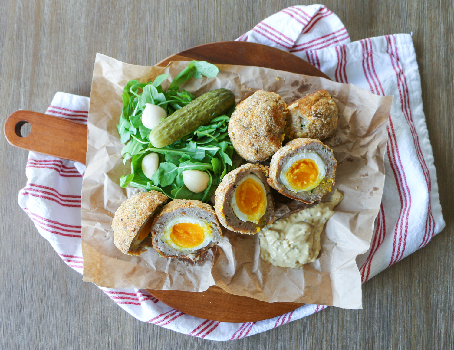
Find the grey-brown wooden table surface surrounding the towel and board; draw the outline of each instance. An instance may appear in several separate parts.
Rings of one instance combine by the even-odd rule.
[[[124,4],[123,4],[124,3]],[[2,0],[0,121],[44,112],[57,91],[89,96],[94,56],[153,65],[232,40],[311,2]],[[446,228],[363,286],[364,310],[330,307],[268,332],[213,342],[140,322],[82,282],[17,204],[27,152],[0,137],[0,349],[449,349],[454,347],[454,3],[325,2],[353,40],[413,32]]]

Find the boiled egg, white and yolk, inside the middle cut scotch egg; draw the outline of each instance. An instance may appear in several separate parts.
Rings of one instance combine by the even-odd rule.
[[[243,177],[233,191],[230,205],[242,221],[258,223],[266,212],[266,190],[263,182],[254,174]]]

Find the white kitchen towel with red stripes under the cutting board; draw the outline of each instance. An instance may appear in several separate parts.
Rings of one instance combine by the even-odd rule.
[[[425,246],[444,227],[434,158],[421,99],[415,49],[408,34],[350,43],[341,20],[323,5],[291,6],[237,40],[282,49],[331,79],[394,95],[385,155],[385,189],[369,251],[358,256],[363,282]],[[86,122],[89,98],[57,93],[47,114]],[[30,152],[20,207],[62,260],[83,271],[80,199],[84,165]],[[305,305],[270,320],[225,323],[186,315],[140,289],[100,288],[138,320],[211,340],[234,340],[297,320],[323,305]]]

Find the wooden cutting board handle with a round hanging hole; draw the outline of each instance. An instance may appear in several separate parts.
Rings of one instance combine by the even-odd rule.
[[[22,137],[20,128],[25,123],[30,123],[31,132]],[[3,131],[13,146],[85,164],[87,125],[83,123],[19,110],[6,119]]]

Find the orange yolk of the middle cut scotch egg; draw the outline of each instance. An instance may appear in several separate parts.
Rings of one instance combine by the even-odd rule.
[[[264,211],[266,207],[266,197],[263,193],[262,186],[257,181],[248,178],[238,186],[235,199],[240,212],[247,215],[249,218],[259,219],[255,217]]]

